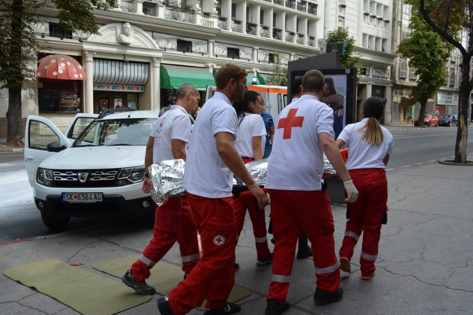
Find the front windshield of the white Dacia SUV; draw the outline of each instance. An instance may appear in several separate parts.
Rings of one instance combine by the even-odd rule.
[[[77,137],[72,147],[145,146],[157,118],[99,120]]]

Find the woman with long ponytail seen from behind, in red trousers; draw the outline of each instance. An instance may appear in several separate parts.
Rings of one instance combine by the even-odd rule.
[[[363,105],[364,119],[345,126],[337,139],[338,148],[348,147],[346,168],[359,191],[358,200],[347,203],[345,237],[340,249],[340,269],[351,272],[350,260],[363,232],[361,279],[374,275],[381,224],[387,221],[388,182],[384,169],[393,151],[393,136],[378,119],[384,104],[372,96]]]

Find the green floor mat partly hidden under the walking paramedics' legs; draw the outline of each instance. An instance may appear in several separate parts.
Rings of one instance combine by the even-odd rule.
[[[121,257],[95,264],[94,268],[109,275],[121,278],[138,258],[139,256],[137,255]],[[180,266],[159,261],[153,269],[151,269],[151,277],[146,280],[146,283],[156,288],[158,294],[168,295],[169,291],[175,288],[183,277],[184,272]],[[250,290],[239,285],[234,285],[232,292],[228,297],[228,302],[235,303],[236,301],[250,296],[250,294]],[[200,307],[199,309],[202,310],[203,307]]]

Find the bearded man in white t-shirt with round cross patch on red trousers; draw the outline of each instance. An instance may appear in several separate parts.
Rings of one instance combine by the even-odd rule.
[[[203,256],[189,276],[158,300],[163,315],[182,315],[201,306],[204,314],[233,314],[238,304],[227,298],[235,283],[236,222],[233,173],[264,208],[266,193],[256,183],[234,147],[238,120],[232,104],[243,99],[245,69],[233,63],[220,67],[217,92],[205,102],[194,124],[184,171],[184,188],[202,242]]]

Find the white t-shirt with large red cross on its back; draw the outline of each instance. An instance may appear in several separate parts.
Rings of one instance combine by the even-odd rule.
[[[284,108],[275,124],[265,187],[320,190],[324,155],[318,135],[334,136],[333,124],[334,111],[312,95]]]

